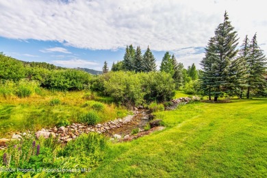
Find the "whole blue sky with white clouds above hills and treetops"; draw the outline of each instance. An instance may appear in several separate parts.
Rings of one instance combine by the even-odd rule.
[[[157,60],[174,53],[184,66],[200,68],[203,48],[227,10],[240,43],[257,32],[267,50],[261,0],[2,0],[0,51],[18,60],[100,70],[123,59],[127,44]]]

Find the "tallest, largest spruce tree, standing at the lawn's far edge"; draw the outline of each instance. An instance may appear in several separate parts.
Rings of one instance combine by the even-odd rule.
[[[209,82],[209,88],[214,95],[214,101],[217,101],[223,92],[230,92],[231,88],[229,86],[231,86],[232,82],[230,66],[238,53],[236,49],[238,45],[237,32],[233,31],[234,27],[229,21],[227,12],[225,12],[224,17],[223,23],[220,23],[214,31],[213,55],[207,55],[209,59],[203,58],[203,60],[210,60],[212,62],[211,71],[209,71],[212,80],[209,81],[213,82]],[[205,62],[202,63],[205,64]],[[202,84],[205,83],[202,82]]]

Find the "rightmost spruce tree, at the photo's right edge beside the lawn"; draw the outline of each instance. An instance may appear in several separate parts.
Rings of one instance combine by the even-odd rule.
[[[266,80],[264,79],[264,73],[266,70],[266,57],[262,49],[257,44],[257,34],[253,36],[250,44],[251,53],[246,58],[248,65],[248,77],[247,77],[247,92],[246,98],[249,99],[251,89],[262,90],[266,86]]]

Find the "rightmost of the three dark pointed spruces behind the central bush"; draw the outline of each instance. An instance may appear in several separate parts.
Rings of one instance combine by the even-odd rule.
[[[155,58],[153,53],[150,51],[149,47],[147,47],[147,51],[144,53],[143,56],[143,64],[142,64],[142,71],[150,72],[156,71],[157,65],[155,64]]]

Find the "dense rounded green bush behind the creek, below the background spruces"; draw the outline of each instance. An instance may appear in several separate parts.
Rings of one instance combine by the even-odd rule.
[[[140,105],[145,101],[168,101],[174,96],[175,84],[167,73],[114,72],[104,82],[105,94],[117,103]]]

